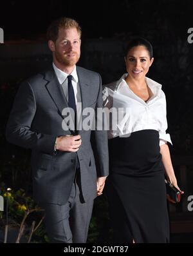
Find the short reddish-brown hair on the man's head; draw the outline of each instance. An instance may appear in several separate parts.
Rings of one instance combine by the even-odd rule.
[[[75,21],[75,19],[71,19],[68,17],[61,17],[60,19],[53,21],[50,24],[50,26],[48,26],[47,39],[53,42],[57,41],[60,28],[65,28],[65,29],[77,28],[77,32],[81,37],[81,28],[77,23],[77,21]]]

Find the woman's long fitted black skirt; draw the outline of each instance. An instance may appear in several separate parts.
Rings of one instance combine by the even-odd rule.
[[[169,217],[159,133],[109,140],[107,178],[114,242],[169,242]]]

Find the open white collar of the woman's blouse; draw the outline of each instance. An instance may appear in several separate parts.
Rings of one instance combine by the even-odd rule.
[[[116,82],[115,91],[118,92],[122,86],[127,86],[127,83],[125,81],[125,77],[127,77],[128,74],[122,75],[122,77]],[[149,88],[152,91],[152,94],[154,96],[160,96],[161,94],[161,84],[157,83],[156,81],[150,79],[149,77],[145,77],[145,81]]]

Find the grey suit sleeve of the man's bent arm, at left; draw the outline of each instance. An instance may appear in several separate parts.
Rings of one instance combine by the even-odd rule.
[[[6,125],[8,142],[23,148],[52,154],[56,137],[31,129],[36,112],[35,95],[30,83],[24,82],[15,96],[14,105]]]

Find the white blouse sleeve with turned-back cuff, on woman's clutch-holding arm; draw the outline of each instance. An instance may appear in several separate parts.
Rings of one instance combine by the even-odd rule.
[[[165,94],[162,91],[162,97],[163,97],[163,119],[161,120],[160,123],[160,130],[159,130],[159,135],[160,135],[160,146],[162,144],[166,144],[169,142],[172,144],[172,141],[170,139],[169,133],[166,133],[167,130],[167,109],[166,109],[166,99],[165,99]]]

